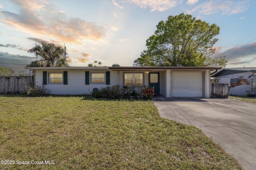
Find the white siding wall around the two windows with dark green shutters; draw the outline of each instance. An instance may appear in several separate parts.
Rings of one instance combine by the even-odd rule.
[[[98,83],[85,85],[85,71],[89,70],[35,70],[35,84],[42,85],[43,71],[48,73],[68,71],[68,84],[50,84],[47,79],[45,88],[50,90],[50,94],[91,94],[93,88],[104,88],[117,84],[117,71],[110,71],[110,85],[106,83]],[[92,70],[91,72],[106,72],[106,70]]]

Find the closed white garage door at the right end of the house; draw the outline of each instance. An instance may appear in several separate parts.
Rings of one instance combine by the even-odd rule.
[[[202,97],[202,72],[172,72],[173,97]]]

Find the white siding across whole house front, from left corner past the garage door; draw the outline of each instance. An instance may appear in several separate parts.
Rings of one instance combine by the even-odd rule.
[[[50,90],[51,94],[91,94],[93,88],[104,88],[106,86],[120,85],[124,86],[124,73],[126,72],[143,72],[144,74],[144,85],[148,86],[149,74],[147,70],[134,70],[134,71],[121,71],[121,70],[35,70],[35,84],[42,85],[43,82],[43,71],[51,72],[68,72],[68,84],[50,84],[47,83],[45,87]],[[110,85],[104,84],[92,84],[85,85],[85,71],[92,72],[106,72],[110,71]],[[182,70],[183,71],[183,70]],[[185,70],[184,70],[185,71]],[[196,71],[196,70],[193,70]],[[199,71],[199,70],[198,70]],[[160,72],[160,94],[170,98],[172,96],[172,70],[162,70]],[[174,71],[173,71],[174,72]],[[175,70],[178,72],[178,70]],[[210,98],[210,70],[200,70],[203,74],[203,97]],[[48,82],[48,80],[47,80]]]

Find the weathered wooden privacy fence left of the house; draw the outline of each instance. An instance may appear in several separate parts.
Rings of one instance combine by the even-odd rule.
[[[17,94],[25,92],[26,84],[34,86],[33,76],[0,77],[0,94]]]

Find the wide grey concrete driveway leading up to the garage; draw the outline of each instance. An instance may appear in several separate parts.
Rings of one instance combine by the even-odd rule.
[[[256,170],[256,104],[212,98],[153,101],[160,117],[200,128],[245,170]]]

